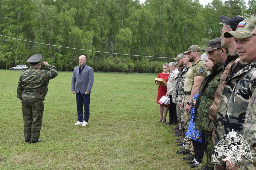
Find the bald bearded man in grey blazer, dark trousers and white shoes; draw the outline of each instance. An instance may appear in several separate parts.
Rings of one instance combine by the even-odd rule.
[[[71,79],[71,91],[76,94],[77,122],[75,125],[86,126],[90,116],[90,93],[94,82],[93,68],[87,66],[86,56],[79,57],[79,66],[75,67]],[[84,120],[83,120],[84,104]]]

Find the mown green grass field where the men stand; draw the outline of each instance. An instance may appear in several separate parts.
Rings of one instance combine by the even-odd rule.
[[[42,142],[29,144],[16,97],[20,73],[0,70],[0,169],[189,169],[175,154],[171,126],[158,123],[156,74],[96,72],[83,127],[74,125],[72,72],[59,72],[44,101]]]

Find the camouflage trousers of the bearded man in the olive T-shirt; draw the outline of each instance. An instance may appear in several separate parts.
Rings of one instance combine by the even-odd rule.
[[[190,95],[185,95],[184,97],[184,107],[187,105],[187,102],[188,102],[188,99],[189,99]],[[185,125],[185,131],[187,131],[188,129],[188,124],[189,124],[189,121],[190,121],[190,117],[191,117],[191,114],[190,112],[186,112],[185,111],[185,108],[184,108],[184,125]],[[193,147],[193,143],[192,143],[192,139],[190,137],[188,137],[186,139],[186,146],[185,146],[185,149],[189,150],[190,153],[192,154],[195,154],[194,152],[194,147]]]

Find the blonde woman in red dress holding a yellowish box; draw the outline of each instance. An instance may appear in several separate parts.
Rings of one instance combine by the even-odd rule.
[[[162,73],[159,73],[157,78],[161,78],[163,80],[165,80],[166,82],[168,81],[168,77],[170,75],[170,73],[168,72],[168,69],[169,66],[167,63],[163,64],[163,72]],[[159,84],[158,82],[155,82],[157,85]],[[167,88],[166,88],[166,85],[161,85],[159,84],[158,86],[158,91],[157,91],[157,100],[156,100],[156,103],[161,99],[162,96],[165,96],[167,93]],[[167,116],[167,113],[168,113],[168,105],[165,105],[165,104],[160,104],[160,119],[158,122],[166,122],[166,116]],[[165,109],[163,109],[165,108]],[[163,110],[165,110],[165,114],[163,115]]]

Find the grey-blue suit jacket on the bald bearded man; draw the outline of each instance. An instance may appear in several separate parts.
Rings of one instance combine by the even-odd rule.
[[[85,94],[85,91],[91,92],[94,82],[93,68],[85,65],[81,75],[79,75],[79,69],[79,66],[74,69],[71,79],[71,91],[75,91],[75,93],[80,91],[82,94]]]

